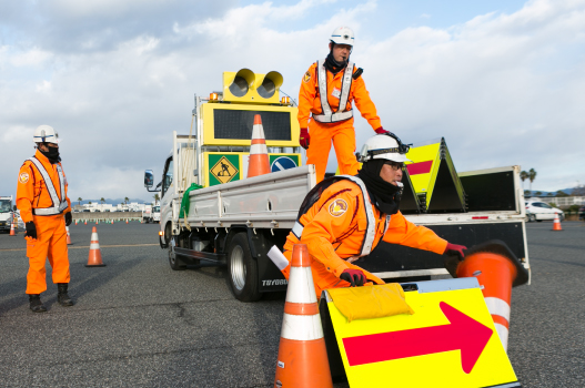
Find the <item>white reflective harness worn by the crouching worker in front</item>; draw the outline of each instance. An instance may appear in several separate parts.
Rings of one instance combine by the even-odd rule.
[[[364,182],[359,178],[357,176],[352,175],[337,175],[332,176],[330,178],[326,178],[319,183],[316,186],[314,186],[309,194],[306,194],[303,203],[301,204],[301,208],[299,210],[299,215],[296,216],[296,222],[294,223],[294,226],[292,228],[292,233],[296,236],[296,238],[301,239],[301,236],[303,234],[304,225],[301,224],[301,216],[304,215],[313,205],[319,201],[321,197],[321,194],[332,184],[340,182],[341,180],[349,180],[355,183],[357,186],[360,186],[362,191],[362,198],[364,202],[364,208],[365,208],[365,216],[367,221],[367,227],[365,228],[364,239],[362,241],[362,248],[360,249],[359,257],[367,256],[372,252],[372,245],[374,244],[374,238],[376,234],[376,222],[374,217],[374,212],[372,211],[372,206],[370,205],[370,195],[367,194],[367,188],[365,188]],[[386,215],[386,225],[384,227],[384,233],[386,233],[390,224],[390,215]]]

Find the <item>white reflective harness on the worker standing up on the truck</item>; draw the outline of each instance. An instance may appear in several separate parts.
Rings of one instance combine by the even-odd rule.
[[[319,84],[322,114],[313,114],[315,121],[320,123],[336,123],[353,118],[353,110],[345,111],[352,88],[353,68],[353,62],[347,62],[341,82],[340,105],[337,106],[337,111],[333,113],[327,101],[327,71],[325,69],[325,59],[317,61],[316,82]]]

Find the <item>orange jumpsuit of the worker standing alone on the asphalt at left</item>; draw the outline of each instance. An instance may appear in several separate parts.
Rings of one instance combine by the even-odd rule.
[[[47,290],[46,261],[52,267],[53,283],[69,283],[69,258],[67,251],[67,231],[63,213],[71,212],[71,201],[67,197],[67,180],[63,183],[64,193],[61,193],[61,182],[57,164],[39,151],[34,157],[41,162],[47,171],[59,200],[65,196],[67,208],[60,214],[34,215],[36,210],[52,207],[53,201],[41,172],[31,161],[26,161],[20,167],[17,186],[17,207],[24,223],[32,221],[37,227],[37,239],[26,237],[27,256],[29,258],[29,273],[27,275],[27,294],[40,294]],[[61,163],[59,163],[59,166]],[[64,174],[63,174],[64,177]],[[58,205],[58,204],[57,204]]]

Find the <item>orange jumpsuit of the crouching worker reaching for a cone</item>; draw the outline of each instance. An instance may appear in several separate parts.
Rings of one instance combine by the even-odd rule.
[[[371,206],[375,218],[375,237],[372,251],[383,239],[413,248],[443,254],[447,242],[433,231],[409,222],[402,213],[393,214],[386,228],[386,215]],[[286,237],[284,256],[291,262],[294,244],[306,244],[313,257],[311,265],[317,297],[326,288],[349,287],[340,279],[346,268],[361,269],[369,280],[384,284],[382,279],[351,264],[360,255],[367,227],[362,190],[351,181],[340,181],[325,188],[319,201],[299,219],[304,226],[301,239],[293,232]],[[384,233],[384,229],[386,232]],[[282,270],[289,279],[290,265]]]

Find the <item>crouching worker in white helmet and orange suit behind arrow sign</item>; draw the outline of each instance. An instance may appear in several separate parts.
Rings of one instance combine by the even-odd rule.
[[[409,146],[392,133],[366,141],[357,175],[333,176],[309,192],[295,226],[286,237],[284,256],[294,244],[306,244],[317,297],[326,288],[384,284],[354,265],[380,241],[463,258],[463,245],[451,244],[433,231],[409,222],[399,211],[402,170]],[[290,264],[282,270],[289,278]]]

